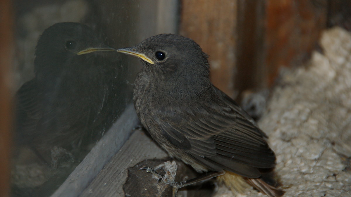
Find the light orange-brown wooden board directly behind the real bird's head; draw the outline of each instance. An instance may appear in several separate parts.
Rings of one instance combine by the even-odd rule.
[[[180,34],[196,41],[210,55],[211,81],[234,96],[236,0],[181,1]]]

